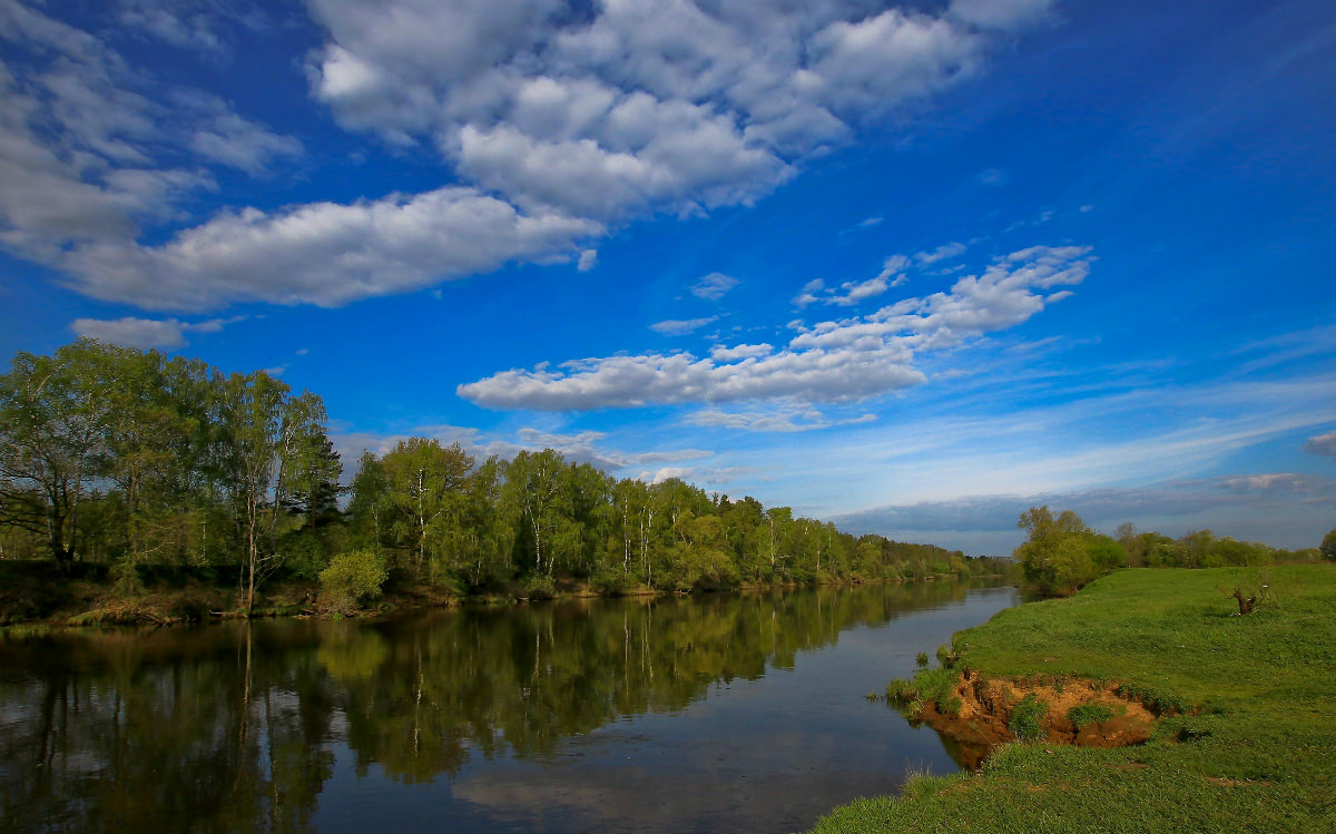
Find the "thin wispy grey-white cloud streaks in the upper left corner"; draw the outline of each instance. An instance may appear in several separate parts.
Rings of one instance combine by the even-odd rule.
[[[92,295],[148,306],[156,291],[112,282],[99,293],[92,250],[132,253],[142,226],[179,221],[183,198],[216,187],[207,166],[262,172],[302,152],[297,139],[216,96],[156,83],[40,11],[0,4],[0,243]],[[167,295],[187,281],[167,270],[156,279]]]

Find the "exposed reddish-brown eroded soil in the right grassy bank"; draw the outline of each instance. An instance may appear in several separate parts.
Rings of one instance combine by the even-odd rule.
[[[919,718],[950,738],[959,748],[962,764],[977,769],[998,744],[1017,740],[1007,728],[1011,712],[1026,695],[1047,704],[1039,719],[1043,743],[1081,747],[1128,747],[1144,744],[1154,731],[1156,716],[1141,702],[1117,694],[1117,683],[1079,678],[1043,678],[1009,680],[962,672],[954,694],[961,710],[947,715],[935,703],[926,703]],[[1082,728],[1067,718],[1067,711],[1082,704],[1106,707],[1112,716]]]

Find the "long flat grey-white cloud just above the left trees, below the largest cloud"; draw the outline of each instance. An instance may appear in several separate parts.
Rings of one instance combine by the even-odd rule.
[[[95,298],[147,309],[203,310],[227,302],[338,306],[494,270],[560,261],[596,223],[525,215],[474,188],[440,188],[353,204],[310,203],[274,214],[247,208],[160,246],[96,242],[61,263]]]

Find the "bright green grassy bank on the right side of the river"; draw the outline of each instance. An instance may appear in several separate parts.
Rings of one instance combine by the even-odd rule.
[[[1222,591],[1257,573],[1121,571],[961,632],[973,668],[1117,679],[1200,712],[1160,719],[1142,747],[1010,744],[978,775],[915,779],[815,830],[1336,831],[1336,565],[1269,568],[1272,603],[1229,616]]]

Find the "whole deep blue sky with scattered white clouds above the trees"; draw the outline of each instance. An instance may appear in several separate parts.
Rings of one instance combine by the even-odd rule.
[[[0,0],[0,352],[969,553],[1336,527],[1329,0]]]

